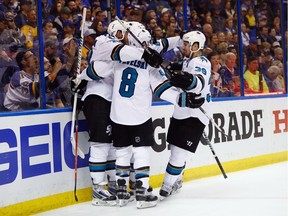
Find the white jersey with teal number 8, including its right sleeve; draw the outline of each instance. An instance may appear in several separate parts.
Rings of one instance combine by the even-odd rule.
[[[144,60],[115,64],[110,118],[122,125],[139,125],[151,118],[152,91],[177,104],[180,91],[172,87],[159,68]]]

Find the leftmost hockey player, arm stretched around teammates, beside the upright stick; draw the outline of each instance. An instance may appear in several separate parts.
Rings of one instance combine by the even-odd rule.
[[[119,40],[125,40],[126,30],[118,21],[108,26],[109,35],[96,38],[90,54],[90,63],[80,77],[72,80],[72,89],[78,91],[84,81],[90,80],[83,95],[83,112],[89,128],[90,158],[89,169],[93,182],[93,205],[116,205],[115,150],[112,146],[112,128],[109,118],[112,100],[113,68],[112,61],[131,61],[145,59],[158,66],[158,53],[147,53],[143,49],[125,46]],[[117,39],[118,38],[118,39]],[[127,35],[126,35],[127,38]],[[153,52],[153,51],[152,51]],[[98,62],[101,60],[101,62]],[[100,79],[98,74],[105,77]],[[97,82],[95,80],[98,80]],[[108,176],[108,190],[105,173]]]

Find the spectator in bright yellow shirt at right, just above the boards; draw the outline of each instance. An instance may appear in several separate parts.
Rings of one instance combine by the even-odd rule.
[[[256,56],[250,56],[247,60],[247,70],[244,73],[245,93],[269,93],[269,88],[263,76],[259,72],[259,62]]]

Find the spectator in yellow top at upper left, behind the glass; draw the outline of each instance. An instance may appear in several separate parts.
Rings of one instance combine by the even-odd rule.
[[[22,26],[21,32],[25,35],[26,41],[25,46],[26,48],[30,49],[34,46],[34,40],[37,39],[37,16],[36,10],[31,9],[27,13],[27,22],[25,25]]]

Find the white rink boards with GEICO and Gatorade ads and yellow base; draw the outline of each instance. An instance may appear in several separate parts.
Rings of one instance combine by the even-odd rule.
[[[231,139],[212,124],[206,128],[211,143],[229,172],[287,160],[287,97],[217,101],[213,119]],[[151,186],[159,187],[167,161],[167,129],[173,106],[152,108],[155,144],[151,149]],[[88,133],[79,118],[79,145],[86,153],[78,158],[79,202],[91,198],[88,170]],[[71,111],[42,110],[0,116],[0,214],[30,215],[75,204],[74,155],[70,143]],[[208,146],[199,145],[186,165],[184,180],[221,175]]]

